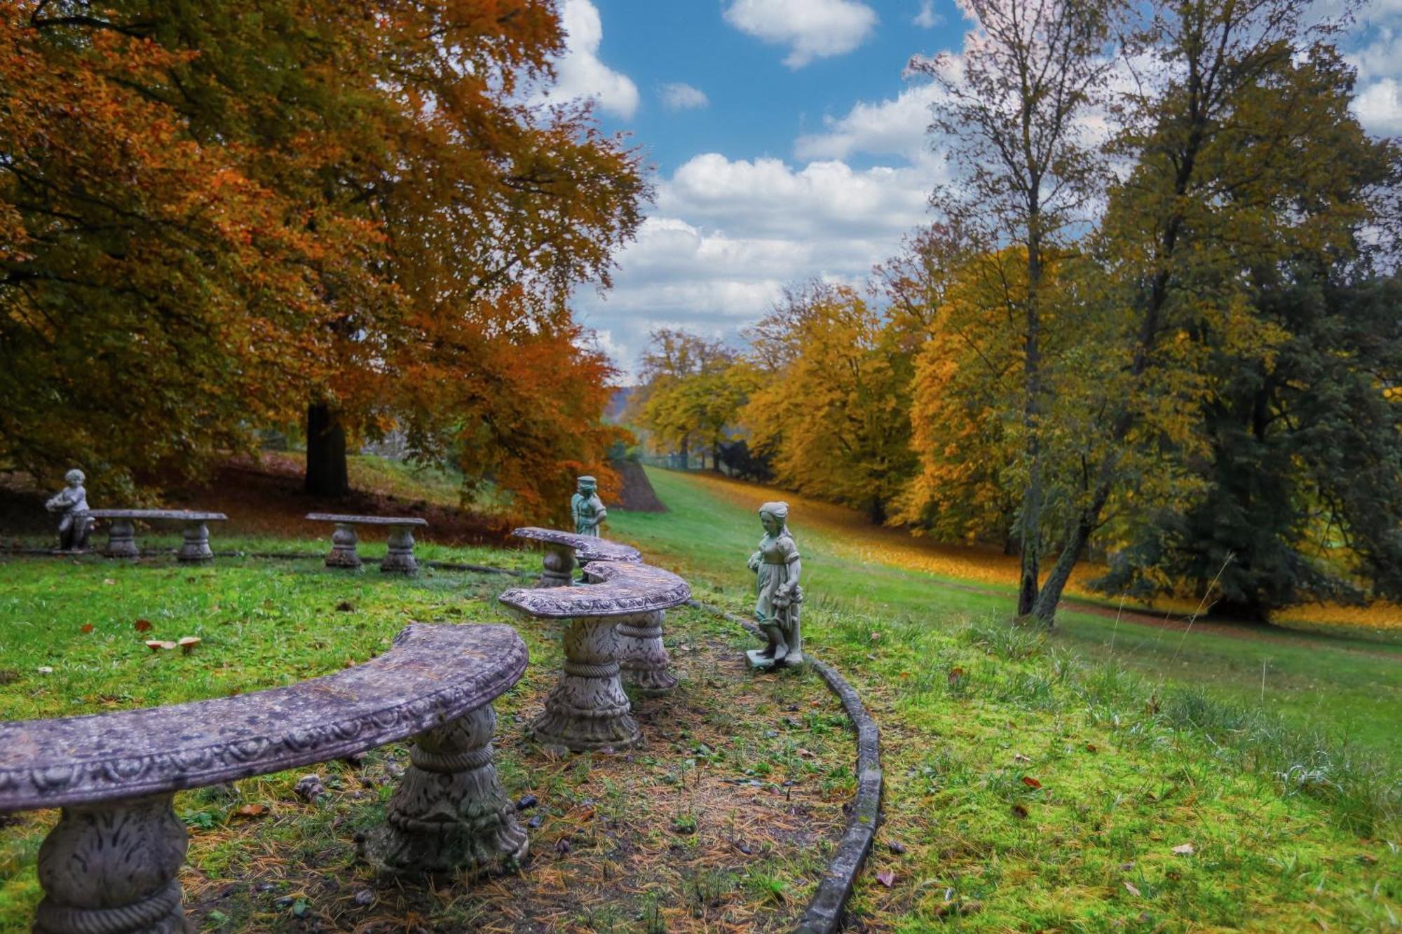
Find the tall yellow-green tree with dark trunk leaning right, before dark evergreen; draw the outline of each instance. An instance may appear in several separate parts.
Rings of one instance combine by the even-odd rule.
[[[1378,199],[1339,167],[1373,164],[1364,175],[1378,177],[1395,154],[1367,142],[1347,108],[1352,70],[1325,41],[1332,27],[1307,36],[1304,14],[1290,0],[1189,0],[1157,13],[1157,80],[1127,95],[1124,109],[1141,119],[1117,142],[1137,161],[1112,191],[1098,241],[1124,309],[1110,345],[1123,366],[1102,421],[1108,443],[1033,607],[1049,625],[1112,496],[1158,480],[1134,454],[1176,447],[1189,464],[1204,450],[1196,417],[1224,388],[1213,356],[1230,348],[1273,366],[1290,335],[1260,314],[1269,271],[1347,264],[1378,219]]]

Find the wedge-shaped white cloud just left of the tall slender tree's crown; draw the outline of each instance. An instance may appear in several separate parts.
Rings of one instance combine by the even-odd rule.
[[[847,158],[852,153],[918,158],[928,149],[930,108],[941,94],[927,81],[904,88],[894,100],[858,101],[845,116],[824,116],[823,133],[799,136],[794,153],[799,158]]]

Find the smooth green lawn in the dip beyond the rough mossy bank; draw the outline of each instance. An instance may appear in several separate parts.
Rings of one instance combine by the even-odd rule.
[[[687,474],[649,468],[648,475],[669,512],[615,510],[608,516],[610,530],[722,592],[746,590],[744,558],[760,537],[753,512],[711,495]],[[791,527],[803,553],[809,607],[850,609],[920,627],[959,625],[1014,609],[1011,595],[958,589],[899,567],[854,564],[848,554],[861,529],[850,540],[808,534],[799,512]],[[1262,707],[1301,729],[1374,749],[1402,766],[1402,651],[1396,648],[1318,632],[1185,635],[1070,610],[1057,614],[1057,627],[1054,641],[1089,659],[1113,662],[1165,686],[1207,687],[1214,696]]]

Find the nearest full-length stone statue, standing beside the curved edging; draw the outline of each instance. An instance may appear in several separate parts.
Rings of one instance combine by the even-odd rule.
[[[750,555],[750,571],[758,575],[754,618],[770,644],[746,655],[754,668],[802,665],[803,637],[798,623],[803,602],[803,590],[798,585],[802,564],[788,530],[788,503],[767,502],[760,506],[760,523],[764,537]]]

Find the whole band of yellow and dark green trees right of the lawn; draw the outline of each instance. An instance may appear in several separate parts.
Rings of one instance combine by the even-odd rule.
[[[1402,596],[1402,160],[1330,27],[1286,0],[1141,29],[1023,7],[972,3],[987,42],[916,63],[960,170],[937,223],[869,289],[789,289],[740,351],[653,332],[632,421],[1016,551],[1047,624],[1092,548],[1108,592],[1248,618]]]

